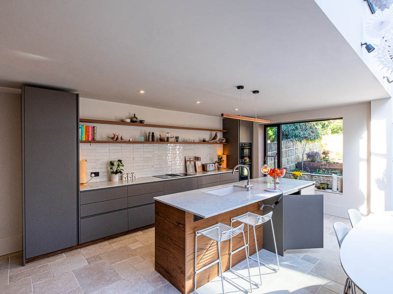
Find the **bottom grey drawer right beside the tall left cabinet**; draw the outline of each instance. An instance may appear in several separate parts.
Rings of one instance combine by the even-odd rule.
[[[80,243],[125,232],[127,220],[127,210],[83,218]]]

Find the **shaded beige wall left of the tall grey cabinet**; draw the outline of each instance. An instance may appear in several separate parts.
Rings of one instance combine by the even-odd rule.
[[[21,98],[0,93],[0,255],[22,250]]]

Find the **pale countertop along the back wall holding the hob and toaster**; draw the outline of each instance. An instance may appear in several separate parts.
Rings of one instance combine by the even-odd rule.
[[[87,191],[87,190],[110,188],[110,187],[122,187],[122,186],[129,186],[129,185],[135,185],[135,184],[145,184],[145,183],[161,182],[161,181],[168,181],[168,180],[184,179],[184,178],[191,178],[191,177],[197,177],[197,176],[207,176],[207,175],[221,174],[221,173],[228,173],[228,172],[232,172],[232,169],[190,172],[190,173],[187,173],[187,174],[190,174],[190,176],[173,177],[170,179],[161,179],[161,178],[156,178],[153,176],[148,176],[148,177],[136,178],[132,181],[119,180],[118,182],[111,182],[111,181],[93,182],[93,183],[87,183],[86,185],[80,186],[79,189],[81,191]]]

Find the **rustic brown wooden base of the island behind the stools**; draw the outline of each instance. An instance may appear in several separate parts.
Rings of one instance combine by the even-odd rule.
[[[230,225],[231,217],[247,212],[262,214],[260,205],[253,203],[229,212],[194,221],[194,214],[174,208],[162,202],[155,202],[155,269],[181,293],[189,294],[194,291],[195,274],[195,232],[219,222]],[[241,223],[236,222],[234,226]],[[250,227],[252,230],[252,227]],[[263,248],[262,225],[255,227],[258,249]],[[247,225],[245,226],[247,241]],[[255,242],[250,232],[250,255],[256,252]],[[243,243],[243,236],[237,235],[232,240],[232,250]],[[230,242],[221,243],[221,259],[223,271],[229,268]],[[204,267],[218,259],[217,242],[204,236],[197,241],[197,268]],[[232,266],[246,259],[244,250],[232,256]],[[218,264],[203,270],[197,275],[197,287],[206,284],[219,275]]]

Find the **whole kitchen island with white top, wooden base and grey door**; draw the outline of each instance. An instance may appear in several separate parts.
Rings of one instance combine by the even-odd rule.
[[[315,183],[310,181],[280,179],[281,192],[266,192],[271,187],[270,178],[253,179],[251,191],[238,185],[221,185],[205,189],[155,197],[155,269],[181,293],[194,290],[195,232],[219,222],[230,225],[231,217],[247,212],[267,214],[273,210],[278,252],[286,249],[323,247],[323,195],[315,195]],[[307,214],[306,214],[307,213]],[[235,226],[240,223],[234,223]],[[269,224],[270,226],[270,224]],[[258,248],[272,251],[271,229],[256,228]],[[245,226],[247,230],[247,226]],[[247,236],[247,235],[246,235]],[[243,237],[233,239],[233,250],[243,244]],[[250,238],[250,255],[256,252]],[[263,242],[263,240],[266,240]],[[274,249],[273,249],[274,250]],[[229,241],[221,243],[223,270],[229,268]],[[197,247],[197,267],[201,268],[218,258],[217,243],[200,238]],[[232,256],[232,265],[245,259],[244,252]],[[215,265],[198,274],[198,287],[219,274]]]

